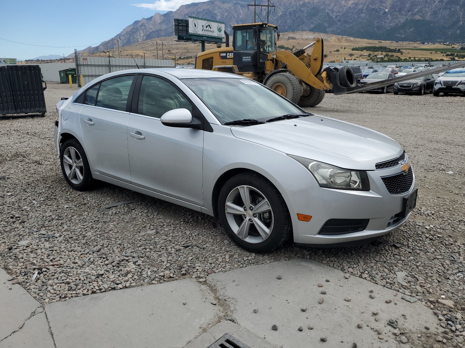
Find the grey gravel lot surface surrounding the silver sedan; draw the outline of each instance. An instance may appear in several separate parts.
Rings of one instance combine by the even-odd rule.
[[[184,277],[204,282],[213,272],[311,258],[438,310],[446,332],[437,334],[462,346],[465,321],[451,316],[465,310],[461,97],[327,95],[310,111],[378,130],[404,146],[419,187],[417,207],[401,228],[369,245],[317,249],[289,241],[261,255],[230,243],[207,215],[106,183],[73,191],[53,146],[54,104],[71,91],[47,85],[45,118],[0,116],[0,266],[39,302]],[[404,284],[396,272],[407,272]],[[454,335],[460,337],[448,341]]]

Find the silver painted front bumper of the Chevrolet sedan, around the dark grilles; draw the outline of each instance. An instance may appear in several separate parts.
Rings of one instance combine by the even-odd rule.
[[[410,163],[409,163],[410,164]],[[403,208],[403,199],[415,189],[412,186],[402,194],[388,192],[381,177],[398,174],[400,165],[394,168],[368,171],[370,191],[337,190],[310,187],[285,193],[292,218],[294,241],[299,244],[338,244],[381,236],[402,225],[407,219],[396,218]],[[309,173],[310,174],[310,173]],[[297,213],[311,215],[309,222],[299,221]],[[364,231],[338,235],[318,234],[329,219],[369,219]]]

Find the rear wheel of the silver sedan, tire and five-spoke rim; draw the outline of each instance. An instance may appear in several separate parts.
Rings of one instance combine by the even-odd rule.
[[[60,148],[60,165],[69,186],[78,191],[92,187],[93,178],[86,153],[76,139],[68,139]]]

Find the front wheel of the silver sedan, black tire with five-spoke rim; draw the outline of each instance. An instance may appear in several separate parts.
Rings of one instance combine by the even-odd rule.
[[[260,209],[264,210],[260,210],[258,215],[253,213],[253,209],[246,208],[248,202],[244,202],[243,196],[248,197],[246,200],[251,207],[259,209],[261,204]],[[256,173],[237,174],[226,181],[219,193],[218,213],[229,238],[247,251],[273,251],[292,233],[291,217],[281,193],[270,181]]]

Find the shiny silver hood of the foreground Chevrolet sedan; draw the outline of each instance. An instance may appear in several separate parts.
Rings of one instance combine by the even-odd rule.
[[[400,156],[402,147],[390,137],[352,123],[309,116],[231,127],[237,138],[334,166],[374,170],[375,164]]]

